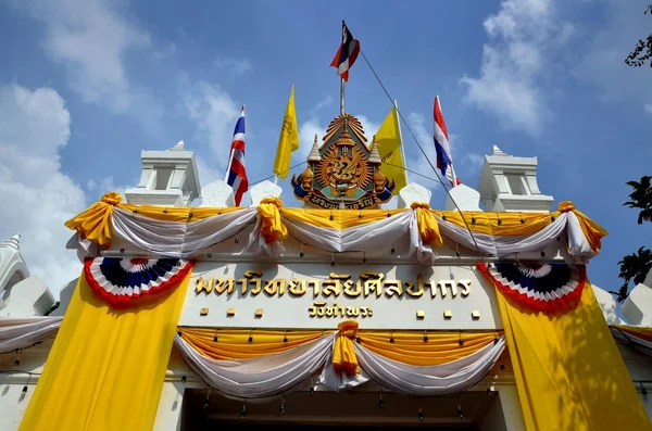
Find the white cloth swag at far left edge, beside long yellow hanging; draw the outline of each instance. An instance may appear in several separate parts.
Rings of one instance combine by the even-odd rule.
[[[26,348],[52,337],[62,317],[0,317],[0,353]]]

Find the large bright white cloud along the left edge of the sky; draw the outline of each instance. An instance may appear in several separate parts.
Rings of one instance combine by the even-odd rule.
[[[51,88],[0,87],[0,240],[20,232],[32,274],[57,292],[78,277],[80,263],[66,251],[64,223],[86,207],[84,191],[61,173],[71,116]]]

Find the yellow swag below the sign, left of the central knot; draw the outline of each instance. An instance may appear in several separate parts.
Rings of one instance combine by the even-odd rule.
[[[203,356],[251,359],[281,353],[324,335],[324,331],[218,330],[179,328],[181,338]],[[249,342],[251,337],[251,343]],[[287,341],[286,341],[287,340]]]

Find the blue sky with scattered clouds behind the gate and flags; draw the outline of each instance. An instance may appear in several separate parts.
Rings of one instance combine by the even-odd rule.
[[[292,85],[303,161],[338,114],[328,64],[341,20],[434,154],[439,93],[457,175],[475,187],[482,155],[539,157],[539,187],[572,200],[610,236],[591,279],[617,289],[617,262],[650,245],[622,203],[650,175],[652,71],[624,63],[652,30],[647,1],[7,1],[0,3],[0,238],[23,234],[34,272],[58,289],[80,268],[63,221],[140,175],[141,149],[178,140],[202,185],[223,178],[247,104],[250,181],[272,173]],[[390,110],[360,58],[347,111],[368,135]],[[411,167],[434,176],[403,130]],[[413,179],[416,179],[413,177]],[[443,207],[443,190],[432,206]],[[294,199],[285,181],[286,204]]]

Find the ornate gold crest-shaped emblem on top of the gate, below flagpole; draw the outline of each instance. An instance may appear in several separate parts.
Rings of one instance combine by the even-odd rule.
[[[330,122],[324,144],[317,136],[308,167],[292,176],[294,195],[322,208],[374,208],[391,199],[392,180],[380,172],[383,161],[375,142],[367,148],[362,124],[350,114]]]

